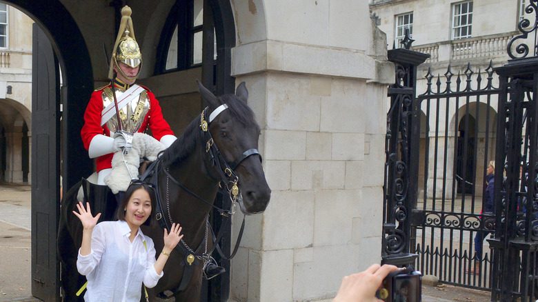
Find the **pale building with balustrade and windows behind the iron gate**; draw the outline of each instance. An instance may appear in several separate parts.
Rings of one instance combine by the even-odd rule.
[[[458,73],[461,74],[461,80],[466,81],[465,73],[470,63],[472,81],[477,79],[477,74],[481,72],[483,85],[486,82],[487,74],[485,72],[490,62],[492,67],[498,67],[506,64],[508,57],[507,46],[512,37],[519,34],[517,25],[526,14],[524,7],[528,6],[528,0],[370,0],[370,12],[376,19],[379,28],[386,32],[387,44],[389,48],[402,47],[398,42],[403,39],[405,30],[410,32],[412,39],[412,50],[430,54],[430,59],[419,66],[417,70],[417,95],[424,94],[427,89],[426,74],[428,70],[434,77],[432,79],[432,90],[435,91],[437,76],[441,81],[441,91],[446,87],[446,74],[450,66],[452,76],[452,88],[455,88]],[[532,50],[532,47],[531,47]],[[494,77],[493,83],[498,87],[497,78]],[[473,84],[475,85],[475,84]],[[476,89],[473,86],[473,89]],[[479,111],[476,108],[479,107]],[[434,143],[426,144],[426,104],[423,103],[421,123],[421,156],[424,156],[426,145],[429,145],[429,154],[433,154]],[[432,109],[433,110],[433,109]],[[448,114],[444,114],[448,110]],[[459,114],[456,112],[459,111]],[[419,192],[427,190],[428,198],[441,197],[452,198],[452,192],[441,192],[444,181],[452,182],[452,174],[456,175],[456,182],[467,181],[475,184],[475,193],[482,194],[483,190],[483,173],[486,169],[484,163],[495,158],[495,122],[497,117],[497,99],[491,99],[489,102],[486,98],[479,99],[479,105],[468,104],[464,101],[459,103],[456,108],[442,109],[437,118],[435,114],[430,114],[428,125],[430,131],[428,137],[435,137],[439,133],[448,136],[446,153],[448,161],[446,165],[437,165],[437,173],[434,171],[432,157],[430,155],[430,165],[428,165],[428,179],[426,187],[424,184],[424,159],[421,160],[419,168]],[[464,121],[466,115],[462,112],[468,112],[470,120],[477,121],[477,131],[471,136],[472,143],[476,144],[477,154],[472,159],[473,168],[468,170],[467,175],[475,173],[476,179],[470,180],[469,177],[461,177],[462,163],[454,165],[458,155],[455,154],[455,144],[457,137],[464,130]],[[477,112],[481,118],[477,116]],[[487,112],[487,113],[486,113]],[[489,122],[486,125],[486,115]],[[448,119],[448,121],[447,121]],[[438,125],[437,125],[438,123]],[[446,126],[448,125],[448,127]],[[470,123],[470,125],[474,125]],[[471,127],[474,128],[474,127]],[[437,129],[437,130],[436,130]],[[476,133],[475,133],[476,132]],[[488,136],[486,138],[486,135]],[[455,139],[456,137],[456,139]],[[439,139],[441,141],[441,139]],[[489,141],[487,147],[485,141]],[[487,150],[485,150],[487,148]],[[443,150],[443,148],[438,148]],[[445,151],[442,151],[445,152]],[[439,154],[438,159],[442,159],[443,154]],[[467,161],[469,162],[469,161]],[[438,161],[439,163],[439,161]],[[456,172],[454,173],[454,167]],[[471,171],[472,170],[472,171]],[[446,172],[446,173],[445,173]],[[448,175],[443,179],[444,175]],[[435,191],[435,192],[434,192]]]

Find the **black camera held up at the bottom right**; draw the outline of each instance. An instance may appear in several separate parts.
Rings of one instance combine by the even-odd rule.
[[[383,280],[376,297],[386,302],[420,302],[422,301],[421,272],[406,268],[388,274]]]

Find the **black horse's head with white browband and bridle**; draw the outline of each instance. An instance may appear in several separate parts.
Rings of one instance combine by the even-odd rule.
[[[208,105],[208,128],[223,160],[239,178],[239,205],[245,214],[266,210],[271,189],[267,184],[261,155],[258,153],[260,128],[254,112],[248,107],[245,83],[239,84],[235,94],[215,97],[198,83],[203,101]],[[242,198],[241,198],[242,197]]]

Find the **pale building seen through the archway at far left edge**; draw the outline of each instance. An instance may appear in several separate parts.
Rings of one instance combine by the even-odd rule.
[[[32,110],[32,24],[0,2],[0,181],[28,183]]]

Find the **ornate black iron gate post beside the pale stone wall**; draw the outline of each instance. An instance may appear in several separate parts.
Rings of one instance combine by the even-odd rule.
[[[388,88],[390,109],[387,113],[385,139],[385,181],[383,184],[383,241],[381,263],[408,266],[415,263],[417,254],[412,225],[420,217],[417,205],[420,116],[415,99],[417,66],[429,54],[409,50],[413,40],[402,41],[405,49],[388,50],[388,61],[395,63],[396,79]]]

